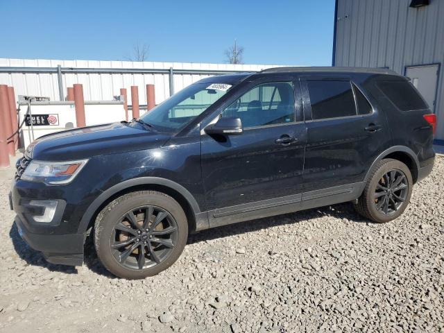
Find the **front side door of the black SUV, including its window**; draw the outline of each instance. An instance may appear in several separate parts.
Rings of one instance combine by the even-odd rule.
[[[239,117],[244,133],[201,137],[212,226],[268,216],[282,205],[300,203],[307,130],[295,103],[299,81],[280,78],[244,89],[220,114]]]

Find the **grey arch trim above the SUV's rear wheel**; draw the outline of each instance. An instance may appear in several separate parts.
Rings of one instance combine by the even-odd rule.
[[[393,158],[394,160],[398,160],[406,164],[411,172],[413,184],[418,180],[418,170],[420,164],[416,154],[407,146],[393,146],[380,153],[378,157],[376,157],[375,161],[373,161],[373,164],[368,169],[366,178],[364,179],[364,186],[368,178],[370,178],[371,171],[375,165],[384,158]],[[364,190],[364,187],[362,189]]]

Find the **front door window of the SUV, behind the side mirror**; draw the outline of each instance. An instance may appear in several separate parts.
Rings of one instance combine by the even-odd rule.
[[[257,85],[223,110],[221,117],[237,117],[244,128],[295,121],[294,87],[289,82]]]

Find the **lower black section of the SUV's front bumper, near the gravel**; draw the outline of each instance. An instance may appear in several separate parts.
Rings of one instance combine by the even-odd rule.
[[[35,234],[26,228],[19,216],[15,218],[15,225],[24,241],[42,252],[47,262],[69,266],[83,264],[83,234]]]

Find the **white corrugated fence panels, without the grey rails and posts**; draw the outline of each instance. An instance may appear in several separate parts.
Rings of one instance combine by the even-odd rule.
[[[117,68],[117,69],[195,69],[226,71],[260,71],[277,65],[229,65],[189,62],[130,62],[95,60],[27,60],[0,58],[0,67],[74,67],[74,68]],[[174,90],[194,83],[209,75],[174,74]],[[83,84],[87,101],[110,101],[120,94],[120,88],[128,90],[128,104],[131,104],[130,86],[139,87],[139,103],[146,104],[146,85],[155,85],[155,103],[162,103],[169,97],[169,74],[62,74],[65,96],[67,87],[74,83]],[[48,96],[51,101],[59,100],[57,74],[8,74],[0,73],[0,84],[15,88],[15,94]],[[16,96],[16,98],[17,98]]]

